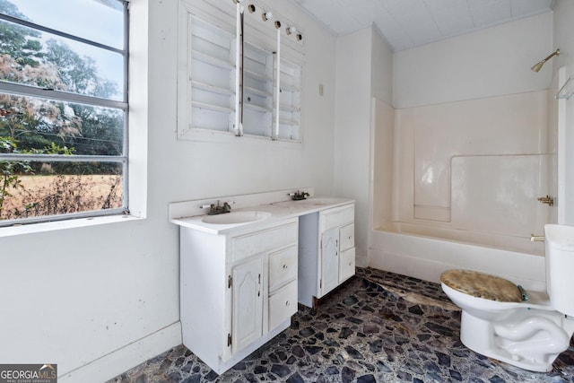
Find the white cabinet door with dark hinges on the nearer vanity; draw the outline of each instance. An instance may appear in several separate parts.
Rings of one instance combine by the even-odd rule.
[[[255,257],[233,267],[232,353],[263,335],[263,266],[263,257]]]

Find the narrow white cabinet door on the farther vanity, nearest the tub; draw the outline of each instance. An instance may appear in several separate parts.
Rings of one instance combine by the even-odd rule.
[[[339,284],[339,228],[325,231],[321,236],[320,296]],[[320,298],[320,297],[317,297]]]

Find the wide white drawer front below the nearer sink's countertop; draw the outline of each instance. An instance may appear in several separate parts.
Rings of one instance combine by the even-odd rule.
[[[257,231],[231,239],[231,261],[284,248],[297,243],[297,222],[290,222],[264,231]]]

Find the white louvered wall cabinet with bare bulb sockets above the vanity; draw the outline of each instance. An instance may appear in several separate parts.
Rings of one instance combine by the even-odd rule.
[[[300,143],[302,32],[253,0],[180,0],[178,138]]]

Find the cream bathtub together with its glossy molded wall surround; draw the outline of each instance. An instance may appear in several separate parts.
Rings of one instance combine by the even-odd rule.
[[[544,291],[556,207],[556,104],[530,91],[392,109],[373,99],[370,266],[439,282],[450,268]],[[554,200],[552,200],[554,202]]]

